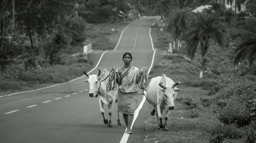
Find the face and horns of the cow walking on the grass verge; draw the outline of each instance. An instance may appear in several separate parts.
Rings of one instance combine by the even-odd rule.
[[[163,92],[163,98],[166,99],[166,104],[167,104],[167,107],[168,107],[168,110],[173,110],[175,109],[175,105],[174,105],[174,101],[176,99],[176,92],[180,91],[180,89],[178,88],[175,88],[176,85],[180,84],[180,82],[176,82],[174,85],[162,85],[162,84],[159,84],[159,86],[161,86],[163,89],[160,89],[162,90]]]

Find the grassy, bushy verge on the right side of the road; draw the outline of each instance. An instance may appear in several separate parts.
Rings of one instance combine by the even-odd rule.
[[[158,28],[152,29],[151,35],[158,49],[167,50],[172,42],[172,37]],[[168,131],[158,129],[156,116],[148,114],[143,142],[255,141],[256,77],[233,66],[233,51],[234,47],[221,49],[212,42],[203,79],[199,78],[200,49],[195,59],[189,60],[184,45],[152,68],[149,78],[164,73],[181,82],[181,92],[168,117]],[[151,110],[148,107],[148,113]]]

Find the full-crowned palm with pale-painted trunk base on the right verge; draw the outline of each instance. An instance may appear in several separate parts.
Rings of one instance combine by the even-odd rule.
[[[195,56],[197,46],[201,46],[202,63],[200,78],[203,78],[203,71],[207,62],[207,51],[210,46],[210,39],[215,43],[224,47],[226,39],[226,31],[224,18],[218,12],[207,14],[202,12],[192,17],[188,31],[184,33],[187,42],[187,53],[191,59]]]

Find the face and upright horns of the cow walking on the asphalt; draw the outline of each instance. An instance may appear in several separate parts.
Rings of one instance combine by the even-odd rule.
[[[85,83],[89,84],[89,97],[97,97],[97,92],[100,89],[100,82],[101,82],[101,78],[100,78],[100,74],[101,71],[98,70],[98,75],[88,75],[86,72],[85,75],[87,77],[89,77],[89,79],[85,80]]]

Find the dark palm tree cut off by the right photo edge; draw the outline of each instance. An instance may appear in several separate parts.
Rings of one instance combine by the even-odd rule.
[[[242,41],[234,51],[234,64],[242,62],[247,59],[249,66],[253,67],[253,62],[256,59],[256,20],[246,19],[240,25],[241,31],[243,31]]]

